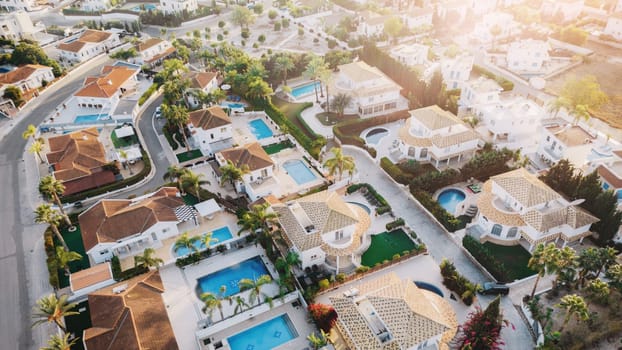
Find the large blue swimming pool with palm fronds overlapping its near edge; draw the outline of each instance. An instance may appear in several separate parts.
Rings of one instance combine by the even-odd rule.
[[[223,297],[228,297],[240,292],[240,287],[238,286],[240,280],[244,278],[257,279],[261,275],[269,276],[270,274],[261,258],[256,256],[199,278],[197,280],[197,293],[199,295],[203,293],[218,295],[220,287],[225,286],[227,290]]]

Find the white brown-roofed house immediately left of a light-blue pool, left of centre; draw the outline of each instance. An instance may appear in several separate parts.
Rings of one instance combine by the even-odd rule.
[[[278,186],[274,177],[276,165],[258,142],[216,152],[214,171],[217,177],[220,178],[220,167],[228,162],[247,171],[234,186],[238,193],[245,193],[251,201],[271,194],[274,186]]]

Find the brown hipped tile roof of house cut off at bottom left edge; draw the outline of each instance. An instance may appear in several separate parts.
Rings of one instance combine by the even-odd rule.
[[[177,350],[162,299],[160,273],[150,271],[89,294],[91,328],[81,335],[87,350]]]

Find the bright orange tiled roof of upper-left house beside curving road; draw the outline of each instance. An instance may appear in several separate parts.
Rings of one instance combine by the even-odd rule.
[[[125,66],[106,66],[99,77],[87,77],[84,86],[74,96],[108,98],[119,93],[121,86],[138,73],[138,70]]]

